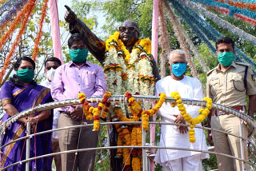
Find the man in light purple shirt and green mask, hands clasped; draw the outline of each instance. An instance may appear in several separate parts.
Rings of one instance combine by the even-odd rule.
[[[68,40],[72,62],[58,67],[51,83],[54,101],[78,98],[78,93],[86,97],[102,96],[106,92],[106,80],[100,66],[86,61],[87,39],[82,34],[72,34]],[[87,121],[82,105],[62,107],[58,128],[80,125]],[[58,132],[59,146],[62,151],[97,147],[98,132],[93,127],[65,129]],[[95,151],[62,154],[62,171],[94,170]]]

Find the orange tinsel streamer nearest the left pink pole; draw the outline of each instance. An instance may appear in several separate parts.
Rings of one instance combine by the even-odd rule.
[[[42,37],[42,23],[44,21],[44,19],[46,18],[46,9],[47,9],[47,3],[49,0],[45,0],[44,5],[42,6],[42,14],[41,14],[41,18],[39,21],[39,30],[38,30],[38,35],[37,38],[34,42],[34,52],[32,54],[32,59],[35,61],[37,56],[38,56],[38,46]]]

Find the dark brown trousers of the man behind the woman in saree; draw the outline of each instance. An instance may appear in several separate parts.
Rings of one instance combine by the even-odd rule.
[[[58,145],[58,139],[57,138],[51,138],[51,153],[58,153],[61,150],[59,149]],[[55,155],[54,157],[51,157],[51,160],[55,162],[56,170],[62,171],[62,159],[61,155]]]

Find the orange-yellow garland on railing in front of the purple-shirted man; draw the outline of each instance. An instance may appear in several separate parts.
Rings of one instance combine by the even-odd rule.
[[[110,92],[104,93],[102,101],[98,104],[96,108],[94,108],[90,106],[89,103],[86,101],[85,93],[78,94],[78,98],[79,98],[79,101],[82,103],[82,109],[84,114],[86,115],[86,119],[90,121],[94,119],[94,131],[98,131],[99,129],[100,117],[106,118],[107,116],[107,113],[110,107],[110,102],[108,101],[110,96],[111,96]],[[102,111],[102,109],[104,110]],[[102,112],[102,115],[100,116],[101,112]]]

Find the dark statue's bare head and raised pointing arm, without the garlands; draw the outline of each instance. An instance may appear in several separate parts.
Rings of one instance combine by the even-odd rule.
[[[69,6],[65,6],[67,11],[65,14],[65,20],[70,24],[70,33],[80,33],[84,34],[86,38],[88,38],[88,49],[91,54],[94,55],[95,58],[98,59],[103,66],[103,62],[105,60],[105,50],[106,50],[106,43],[102,41],[102,39],[98,38],[87,26],[83,23],[77,15],[74,14],[74,11],[70,9]],[[126,20],[122,22],[122,25],[119,27],[120,39],[126,46],[126,49],[131,52],[135,43],[138,41],[139,38],[139,30],[138,25],[130,20]],[[160,75],[158,72],[158,67],[154,58],[152,60],[153,64],[153,74],[155,82],[160,79]]]

